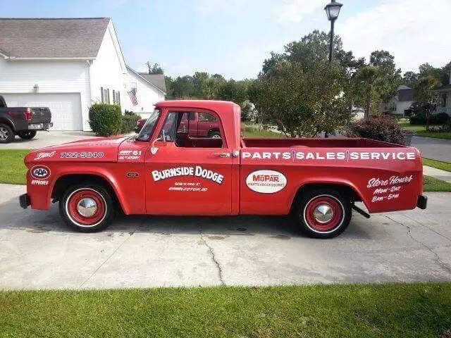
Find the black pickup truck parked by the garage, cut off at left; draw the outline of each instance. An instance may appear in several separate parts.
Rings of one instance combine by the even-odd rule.
[[[13,142],[14,136],[32,139],[37,130],[48,130],[54,124],[47,107],[8,107],[0,95],[0,143]]]

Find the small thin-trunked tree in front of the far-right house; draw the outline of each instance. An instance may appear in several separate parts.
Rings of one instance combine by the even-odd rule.
[[[439,96],[433,89],[439,84],[440,82],[433,75],[426,75],[419,79],[415,88],[415,103],[426,115],[426,130],[429,130],[431,113],[438,104]]]

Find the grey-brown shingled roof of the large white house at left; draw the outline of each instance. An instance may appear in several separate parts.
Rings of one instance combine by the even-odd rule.
[[[110,18],[0,18],[9,58],[95,58]]]

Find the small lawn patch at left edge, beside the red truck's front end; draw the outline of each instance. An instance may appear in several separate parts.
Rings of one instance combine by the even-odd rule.
[[[23,158],[29,152],[29,149],[0,150],[0,183],[27,184]]]

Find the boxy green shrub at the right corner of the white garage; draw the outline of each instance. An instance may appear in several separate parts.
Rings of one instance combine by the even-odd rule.
[[[93,104],[89,108],[89,125],[97,136],[111,136],[121,132],[121,106]]]

